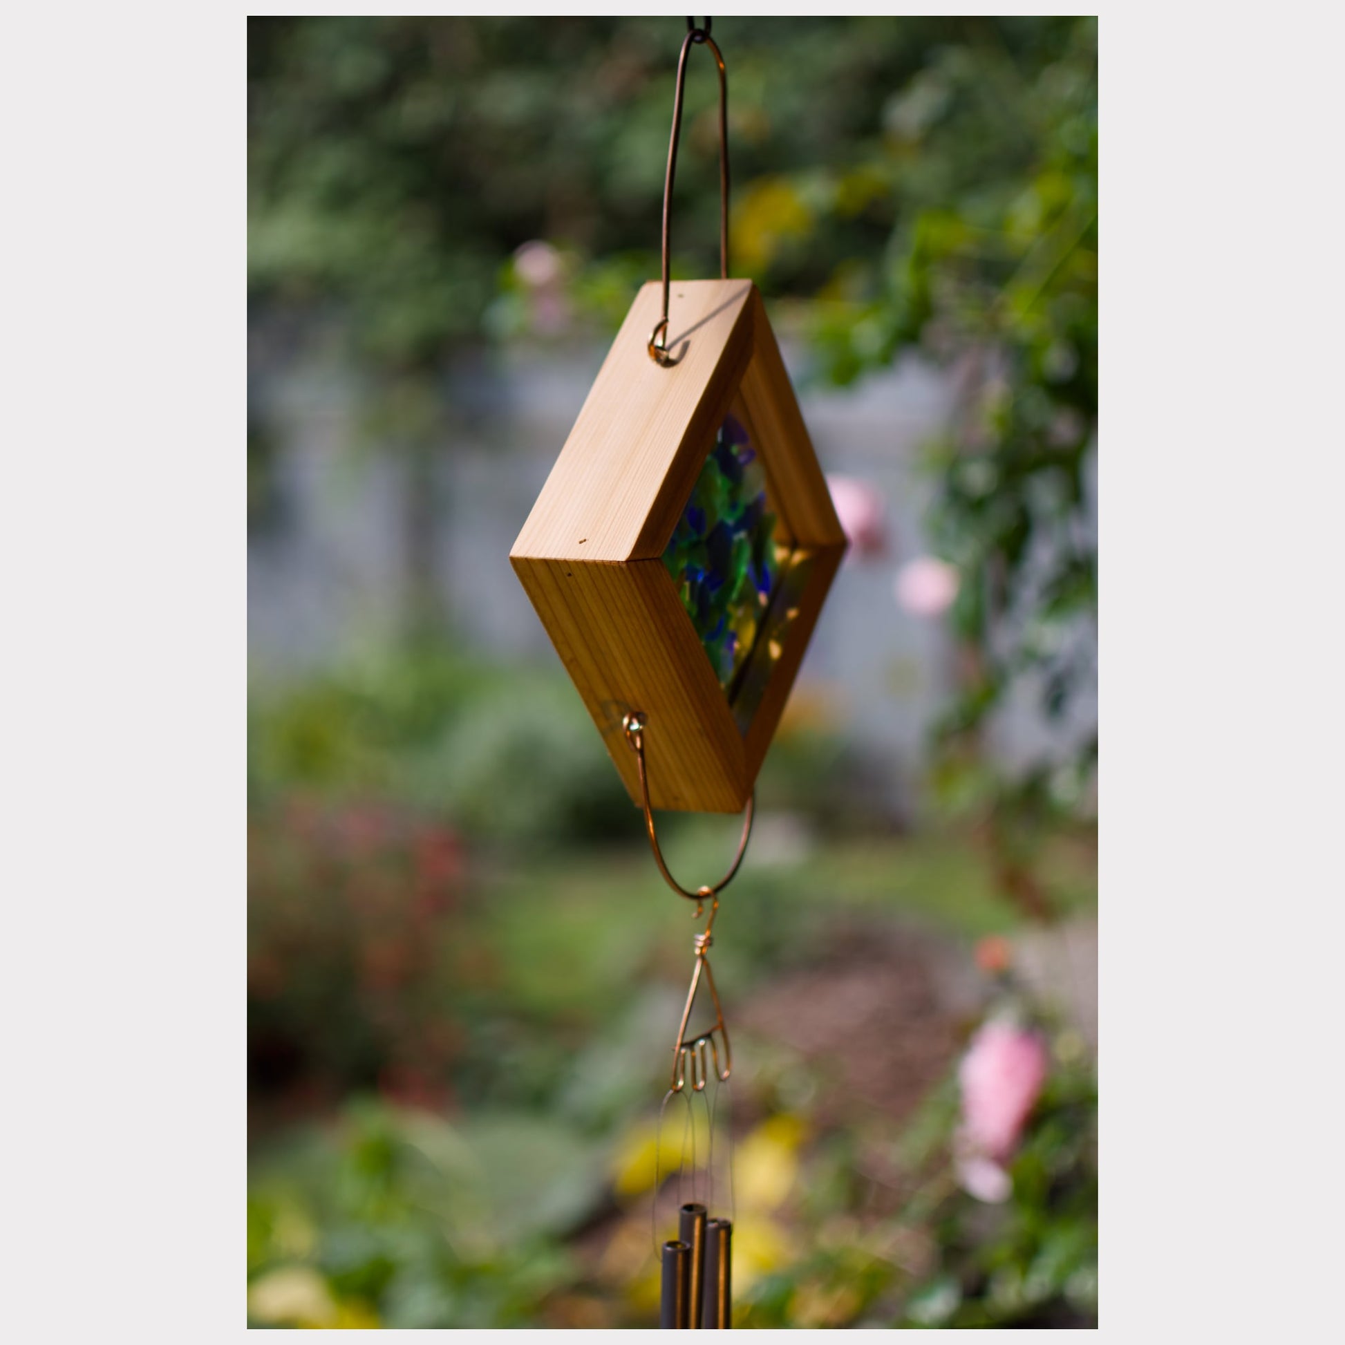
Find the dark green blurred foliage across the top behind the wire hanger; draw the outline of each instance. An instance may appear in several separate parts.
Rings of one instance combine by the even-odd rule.
[[[652,274],[681,27],[252,19],[253,293],[338,300],[363,348],[416,363],[487,334],[496,274],[531,239]],[[1021,187],[1061,98],[1087,148],[1087,89],[1063,63],[1095,32],[1033,17],[717,20],[734,270],[769,295],[881,282],[898,221]],[[675,235],[687,274],[718,260],[710,69],[693,52]]]

